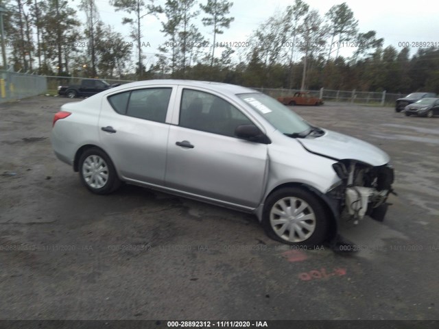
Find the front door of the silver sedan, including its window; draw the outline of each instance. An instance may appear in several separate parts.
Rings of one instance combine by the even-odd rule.
[[[252,123],[226,99],[180,87],[178,125],[169,130],[165,184],[211,199],[255,207],[265,182],[267,145],[234,136]]]

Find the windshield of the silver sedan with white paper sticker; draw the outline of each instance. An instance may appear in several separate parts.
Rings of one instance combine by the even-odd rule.
[[[237,96],[283,134],[298,134],[311,128],[305,120],[272,97],[261,93],[239,94]]]

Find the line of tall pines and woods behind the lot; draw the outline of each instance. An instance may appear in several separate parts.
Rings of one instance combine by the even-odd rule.
[[[221,40],[233,28],[228,0],[110,0],[130,26],[123,36],[99,16],[95,0],[1,0],[8,64],[43,75],[145,80],[185,78],[264,88],[439,92],[439,48],[418,42],[383,47],[361,32],[346,3],[325,14],[295,0],[259,24],[246,40]],[[79,21],[78,11],[85,16]],[[145,16],[161,23],[147,31]],[[200,27],[204,29],[200,29]],[[201,31],[207,31],[203,34]],[[149,38],[164,42],[152,49]],[[342,56],[344,48],[349,57]],[[146,51],[154,63],[145,66]]]

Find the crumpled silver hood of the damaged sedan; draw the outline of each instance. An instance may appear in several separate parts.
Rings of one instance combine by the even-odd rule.
[[[384,151],[358,138],[324,130],[325,134],[317,138],[297,139],[307,151],[336,160],[358,160],[372,166],[381,166],[389,162],[390,157]]]

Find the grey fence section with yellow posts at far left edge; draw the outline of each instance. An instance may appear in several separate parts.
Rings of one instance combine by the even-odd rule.
[[[0,103],[46,92],[46,77],[0,70]]]

